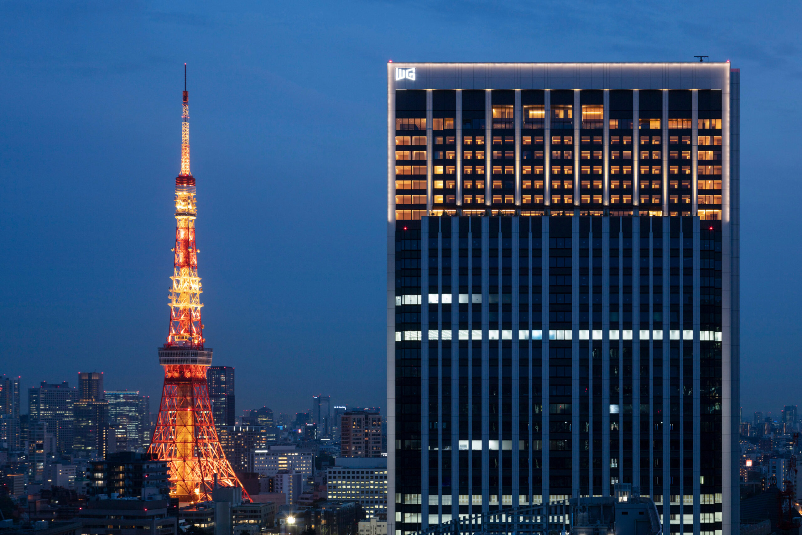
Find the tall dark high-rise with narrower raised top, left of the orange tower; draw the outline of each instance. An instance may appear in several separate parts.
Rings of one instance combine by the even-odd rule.
[[[75,402],[73,451],[103,459],[107,453],[108,402],[103,391],[103,373],[78,374],[79,399]]]

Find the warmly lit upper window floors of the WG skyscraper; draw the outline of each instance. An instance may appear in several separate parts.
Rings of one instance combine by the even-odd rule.
[[[492,91],[491,128],[484,101],[485,91],[397,91],[397,221],[574,209],[722,217],[721,91]]]

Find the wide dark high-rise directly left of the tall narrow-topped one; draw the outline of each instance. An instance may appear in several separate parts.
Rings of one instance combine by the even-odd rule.
[[[45,422],[47,432],[55,438],[55,451],[64,455],[72,452],[77,400],[78,390],[67,381],[61,384],[42,381],[38,387],[28,389],[30,428],[34,422]]]

